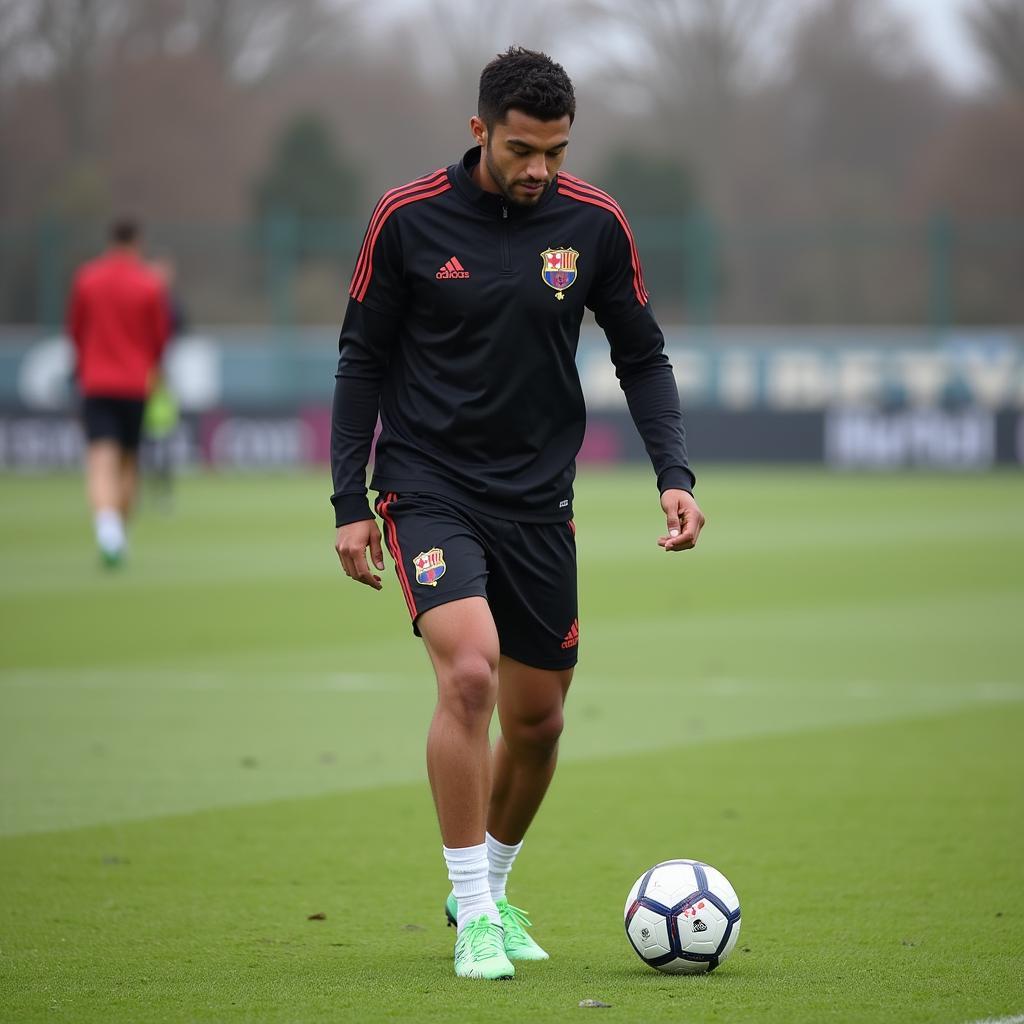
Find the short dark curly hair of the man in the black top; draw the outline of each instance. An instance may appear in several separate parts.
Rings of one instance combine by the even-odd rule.
[[[480,73],[477,113],[493,128],[509,111],[522,111],[539,121],[575,118],[575,93],[565,69],[547,53],[510,46]]]

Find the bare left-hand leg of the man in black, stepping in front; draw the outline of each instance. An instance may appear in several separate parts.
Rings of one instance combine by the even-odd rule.
[[[446,847],[483,842],[490,794],[487,729],[498,698],[498,632],[482,597],[425,611],[420,632],[437,676],[427,774]]]

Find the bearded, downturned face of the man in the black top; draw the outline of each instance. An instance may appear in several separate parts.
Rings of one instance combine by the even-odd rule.
[[[470,127],[483,147],[480,187],[517,206],[536,206],[565,159],[568,115],[539,121],[513,110],[489,131],[479,118],[473,118]]]

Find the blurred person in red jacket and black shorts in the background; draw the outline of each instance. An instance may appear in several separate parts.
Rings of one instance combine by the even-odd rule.
[[[104,565],[120,565],[138,489],[145,401],[171,331],[163,282],[142,260],[131,217],[111,228],[110,246],[75,274],[68,334],[82,394],[86,490]]]

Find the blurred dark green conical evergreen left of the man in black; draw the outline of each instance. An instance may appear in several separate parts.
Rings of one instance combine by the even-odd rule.
[[[253,190],[260,221],[287,215],[324,221],[361,214],[359,176],[339,154],[317,114],[299,114],[274,144],[270,165]]]

